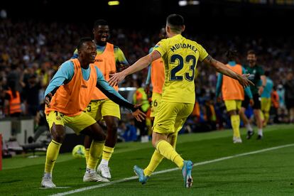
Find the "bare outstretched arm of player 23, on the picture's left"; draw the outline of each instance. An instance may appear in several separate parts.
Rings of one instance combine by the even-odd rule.
[[[151,54],[148,54],[148,55],[144,56],[143,58],[140,58],[139,60],[137,60],[133,65],[128,67],[126,70],[112,75],[108,81],[109,85],[111,85],[111,86],[117,85],[119,82],[121,82],[121,80],[124,80],[124,78],[127,75],[131,75],[134,72],[138,72],[140,70],[143,70],[145,67],[147,67],[149,64],[151,64],[151,62],[153,62],[153,60],[157,60],[160,57],[161,57],[160,53],[158,51],[154,50]]]

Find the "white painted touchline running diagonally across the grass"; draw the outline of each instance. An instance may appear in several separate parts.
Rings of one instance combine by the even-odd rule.
[[[256,153],[263,153],[263,152],[266,152],[266,151],[273,151],[273,150],[276,150],[276,149],[279,149],[279,148],[286,148],[286,147],[290,147],[290,146],[294,146],[294,143],[290,143],[290,144],[283,145],[283,146],[276,146],[276,147],[272,147],[272,148],[265,148],[265,149],[262,149],[262,150],[259,150],[259,151],[252,151],[252,152],[249,152],[249,153],[236,154],[234,156],[226,156],[226,157],[217,158],[217,159],[214,159],[214,160],[206,160],[206,161],[203,161],[203,162],[200,162],[200,163],[195,163],[193,166],[206,165],[206,164],[215,163],[215,162],[218,162],[218,161],[221,161],[221,160],[227,160],[227,159],[236,158],[236,157],[240,157],[240,156],[248,156],[248,155],[252,155],[252,154],[256,154]],[[179,168],[161,170],[161,171],[153,173],[153,175],[157,175],[157,174],[160,174],[160,173],[168,173],[168,172],[175,171],[175,170],[179,170]],[[138,178],[138,177],[137,176],[132,176],[130,178],[123,178],[121,180],[114,180],[114,181],[109,182],[109,183],[103,183],[103,184],[94,185],[94,186],[90,186],[90,187],[83,187],[83,188],[79,188],[79,189],[76,189],[76,190],[70,190],[70,191],[67,191],[67,192],[60,192],[60,193],[57,193],[57,194],[51,195],[51,196],[70,195],[70,194],[73,194],[73,193],[76,193],[76,192],[83,192],[83,191],[86,191],[86,190],[92,190],[92,189],[95,189],[95,188],[98,188],[98,187],[106,187],[106,186],[114,185],[114,184],[117,184],[117,183],[124,183],[126,181],[135,180],[136,178]]]

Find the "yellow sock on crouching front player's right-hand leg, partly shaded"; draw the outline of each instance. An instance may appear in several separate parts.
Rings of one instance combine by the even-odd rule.
[[[89,159],[87,161],[87,168],[95,169],[98,160],[102,154],[103,146],[105,141],[92,141],[91,147],[89,148]]]

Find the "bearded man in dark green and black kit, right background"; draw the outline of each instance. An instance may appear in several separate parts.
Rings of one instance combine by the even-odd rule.
[[[250,86],[252,95],[254,97],[254,105],[252,106],[254,109],[254,116],[256,118],[256,124],[258,127],[258,136],[257,139],[261,139],[263,137],[262,131],[262,119],[261,119],[261,94],[263,92],[263,88],[266,87],[266,76],[264,75],[263,68],[260,65],[256,64],[256,53],[254,50],[249,50],[247,52],[247,61],[249,65],[244,65],[246,73],[249,73],[249,80],[254,83],[254,85]],[[241,109],[239,114],[241,119],[243,120],[246,128],[247,128],[247,139],[250,139],[253,136],[254,131],[251,127],[249,119],[247,119],[245,115],[245,111],[249,106],[249,97],[244,98],[244,101],[241,104]]]

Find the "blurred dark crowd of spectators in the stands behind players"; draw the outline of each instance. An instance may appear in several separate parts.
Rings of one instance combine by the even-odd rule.
[[[43,110],[43,93],[62,62],[72,57],[78,40],[92,36],[92,29],[83,25],[38,21],[0,21],[0,118],[38,116]],[[269,72],[278,104],[272,104],[271,123],[293,122],[286,101],[294,99],[294,38],[283,36],[224,36],[184,34],[200,43],[213,58],[226,62],[224,53],[230,48],[239,51],[241,64],[246,64],[246,51],[256,51],[258,65]],[[123,50],[130,64],[148,53],[158,42],[158,29],[111,28],[110,42]],[[121,87],[143,84],[148,70],[134,74]],[[183,131],[209,131],[229,128],[224,103],[215,98],[217,74],[212,67],[197,65],[195,109]],[[290,85],[290,87],[289,87]],[[291,89],[291,87],[293,87]],[[286,90],[285,90],[286,89]],[[19,102],[16,100],[19,97]],[[14,99],[15,98],[15,99]],[[13,102],[11,100],[14,100]],[[10,104],[10,105],[9,105]],[[16,111],[16,112],[15,112]],[[248,111],[251,116],[251,111]],[[294,114],[293,114],[294,115]],[[38,119],[36,119],[38,121]],[[124,119],[123,119],[124,120]],[[123,133],[134,123],[121,121]],[[127,134],[126,134],[127,135]],[[132,138],[130,140],[135,140]]]

